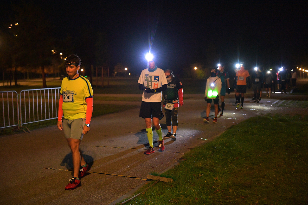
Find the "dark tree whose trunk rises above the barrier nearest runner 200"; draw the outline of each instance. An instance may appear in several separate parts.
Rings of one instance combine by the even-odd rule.
[[[13,65],[40,69],[43,88],[47,88],[44,67],[50,65],[52,59],[51,24],[34,2],[22,2],[15,5],[14,10],[18,26],[11,30],[15,37]]]

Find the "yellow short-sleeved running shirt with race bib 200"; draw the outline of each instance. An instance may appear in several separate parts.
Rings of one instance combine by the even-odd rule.
[[[65,119],[86,117],[86,99],[93,97],[92,86],[87,78],[81,75],[72,80],[68,76],[63,78],[60,93],[63,98],[62,110]]]

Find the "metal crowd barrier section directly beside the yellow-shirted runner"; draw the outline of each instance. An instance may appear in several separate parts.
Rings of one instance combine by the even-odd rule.
[[[57,103],[59,104],[60,89],[61,87],[20,91],[19,126],[58,118]]]

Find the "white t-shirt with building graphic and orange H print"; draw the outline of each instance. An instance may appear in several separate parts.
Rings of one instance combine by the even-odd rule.
[[[160,88],[162,85],[168,84],[166,75],[163,69],[157,68],[154,72],[144,69],[141,71],[138,83],[150,89]],[[161,92],[147,93],[143,91],[142,101],[144,102],[161,102]]]

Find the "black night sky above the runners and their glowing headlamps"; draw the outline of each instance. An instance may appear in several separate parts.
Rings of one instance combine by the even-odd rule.
[[[227,67],[238,56],[246,68],[307,62],[306,1],[36,2],[57,36],[78,36],[83,25],[107,32],[112,67],[120,62],[143,69],[149,38],[158,67],[175,71],[205,58],[206,49],[213,45]],[[1,4],[1,19],[6,23],[12,13],[10,1]]]

